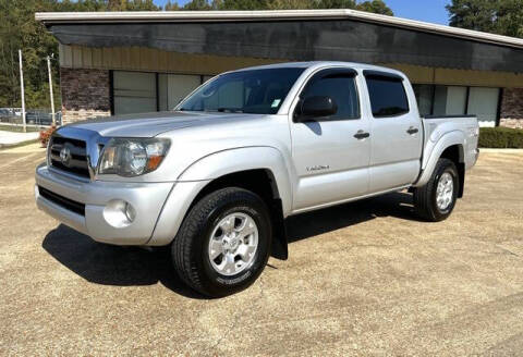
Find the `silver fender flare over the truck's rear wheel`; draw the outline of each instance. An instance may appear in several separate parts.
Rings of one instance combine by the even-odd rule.
[[[461,147],[460,150],[460,162],[463,162],[463,143],[465,141],[465,135],[461,131],[452,131],[450,133],[447,133],[442,135],[434,145],[430,145],[431,143],[427,143],[427,147],[425,148],[424,151],[424,158],[422,162],[422,173],[419,175],[419,178],[417,182],[413,185],[414,187],[419,187],[425,185],[429,180],[430,176],[433,175],[434,169],[436,168],[436,163],[438,162],[438,159],[441,157],[441,153],[443,151],[454,145],[458,145]],[[431,146],[431,149],[430,149]],[[430,153],[428,156],[425,156],[427,151],[430,150]]]

